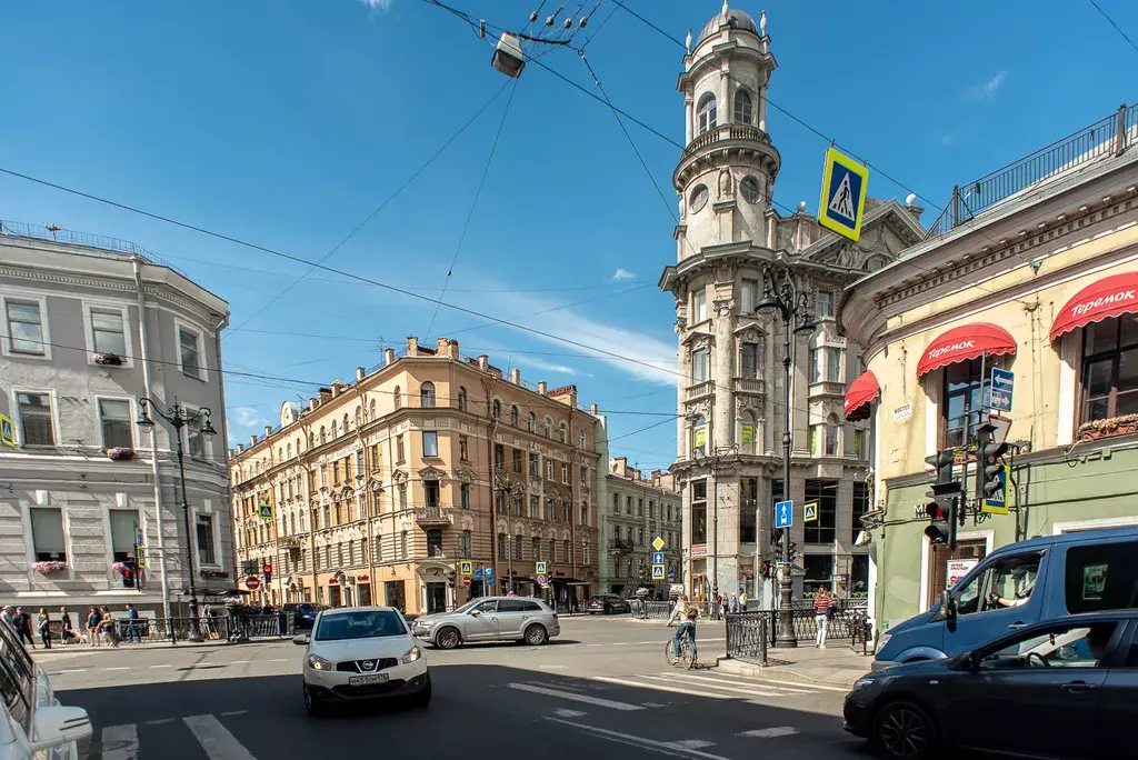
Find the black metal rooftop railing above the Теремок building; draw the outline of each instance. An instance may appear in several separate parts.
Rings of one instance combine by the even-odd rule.
[[[1138,106],[1120,106],[1110,116],[1003,166],[958,184],[926,240],[948,234],[1009,198],[1044,182],[1067,176],[1094,162],[1116,158],[1138,140]]]

